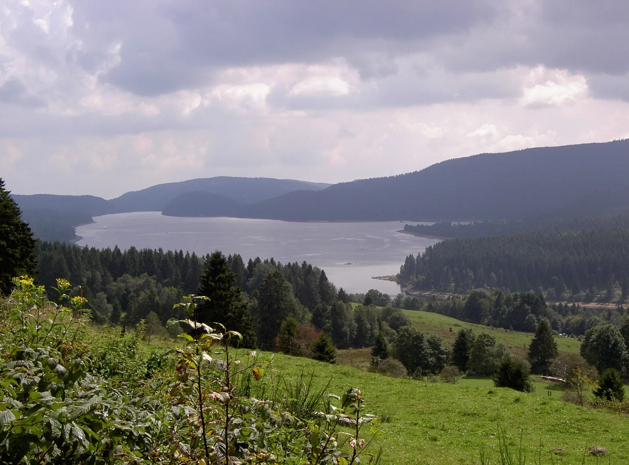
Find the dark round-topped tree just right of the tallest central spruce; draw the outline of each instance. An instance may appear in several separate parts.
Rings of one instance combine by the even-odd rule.
[[[258,342],[269,350],[279,332],[282,321],[294,314],[295,298],[292,287],[282,271],[275,270],[265,276],[258,296]]]

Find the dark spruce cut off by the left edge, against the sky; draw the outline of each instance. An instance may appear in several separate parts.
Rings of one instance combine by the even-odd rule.
[[[0,293],[11,292],[15,276],[35,276],[35,241],[18,204],[0,178]]]

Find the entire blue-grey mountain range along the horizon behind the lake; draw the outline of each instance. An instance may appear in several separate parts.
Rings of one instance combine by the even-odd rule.
[[[155,185],[112,200],[87,195],[14,198],[21,207],[72,207],[92,216],[132,211],[284,221],[597,216],[629,211],[629,140],[481,153],[412,173],[334,185],[215,177]]]

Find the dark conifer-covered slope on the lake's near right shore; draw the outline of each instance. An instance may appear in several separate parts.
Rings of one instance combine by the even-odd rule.
[[[560,300],[626,302],[628,217],[573,231],[448,239],[408,256],[398,280],[417,290],[499,287]]]

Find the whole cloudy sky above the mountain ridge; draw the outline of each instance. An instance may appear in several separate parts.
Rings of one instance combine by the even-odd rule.
[[[629,137],[626,0],[2,0],[0,176],[116,197]]]

